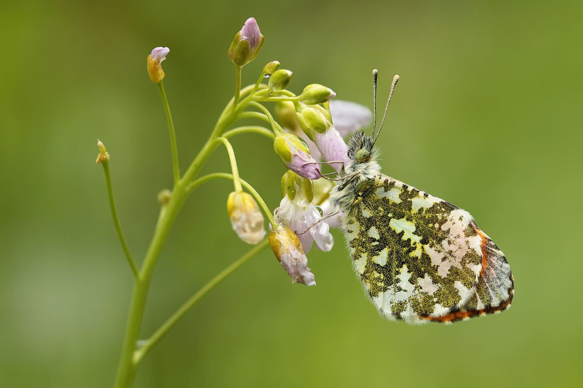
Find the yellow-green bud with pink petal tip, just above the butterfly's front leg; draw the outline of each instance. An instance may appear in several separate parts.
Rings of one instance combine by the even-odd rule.
[[[319,166],[310,155],[310,148],[301,137],[280,133],[273,140],[273,148],[283,164],[297,175],[307,179],[318,179],[322,176]]]

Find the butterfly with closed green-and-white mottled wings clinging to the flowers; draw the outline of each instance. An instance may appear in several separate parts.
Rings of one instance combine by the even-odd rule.
[[[374,132],[350,139],[330,201],[378,311],[392,321],[452,323],[510,307],[514,277],[503,252],[465,210],[382,174]]]

